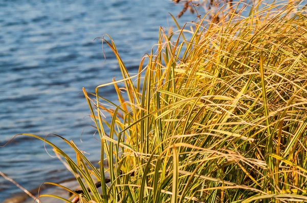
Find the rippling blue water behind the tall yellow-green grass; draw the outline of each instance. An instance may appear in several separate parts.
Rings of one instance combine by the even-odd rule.
[[[158,42],[159,27],[174,25],[168,12],[177,15],[181,9],[165,0],[1,1],[0,145],[18,133],[55,133],[98,160],[100,143],[86,127],[94,122],[81,88],[93,92],[121,74],[111,49],[105,46],[104,62],[101,40],[94,38],[111,35],[128,69],[136,72]],[[187,12],[179,21],[194,19]],[[100,92],[117,99],[112,87]],[[60,139],[48,139],[74,155]],[[0,171],[28,190],[71,176],[42,141],[26,136],[0,148],[0,159]],[[20,191],[0,176],[0,202]]]

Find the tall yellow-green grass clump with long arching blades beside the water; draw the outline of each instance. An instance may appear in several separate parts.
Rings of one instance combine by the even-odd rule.
[[[161,29],[136,75],[103,38],[123,79],[92,94],[83,89],[100,136],[100,167],[73,142],[62,138],[76,162],[47,141],[82,189],[60,186],[73,193],[66,201],[307,201],[304,9],[271,4],[239,17],[234,7],[218,23],[204,18],[170,35]],[[99,94],[106,85],[119,105]]]

